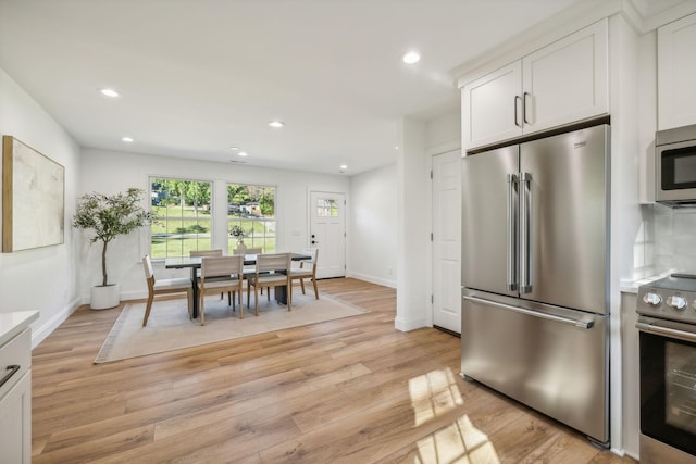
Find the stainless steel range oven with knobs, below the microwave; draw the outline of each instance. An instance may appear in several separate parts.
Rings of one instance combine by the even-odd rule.
[[[641,463],[696,464],[696,276],[641,286]]]

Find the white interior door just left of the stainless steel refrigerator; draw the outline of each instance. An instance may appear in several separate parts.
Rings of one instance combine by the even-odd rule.
[[[433,156],[433,324],[461,334],[461,153]]]

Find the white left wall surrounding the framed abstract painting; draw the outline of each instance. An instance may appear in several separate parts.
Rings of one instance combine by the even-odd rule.
[[[36,346],[78,304],[70,218],[75,211],[79,183],[79,147],[2,70],[0,133],[15,137],[65,167],[64,244],[0,254],[0,312],[38,310],[40,317],[32,325]]]

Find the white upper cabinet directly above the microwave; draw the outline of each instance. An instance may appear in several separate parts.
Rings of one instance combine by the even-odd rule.
[[[696,14],[657,32],[658,129],[696,124]]]

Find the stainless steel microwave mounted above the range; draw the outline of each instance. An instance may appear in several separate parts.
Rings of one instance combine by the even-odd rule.
[[[656,200],[696,208],[696,124],[655,134]]]

